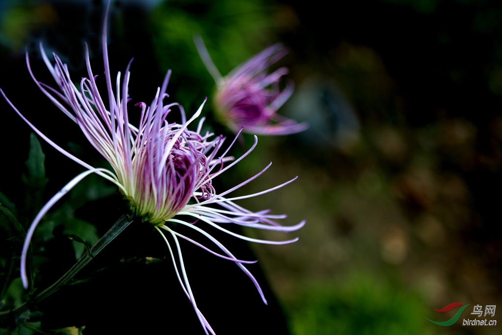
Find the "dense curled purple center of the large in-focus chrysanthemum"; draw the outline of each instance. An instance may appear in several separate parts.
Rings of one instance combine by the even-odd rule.
[[[133,159],[135,187],[127,198],[133,212],[155,226],[163,226],[183,210],[195,190],[201,189],[201,198],[214,195],[206,175],[207,158],[201,152],[205,147],[185,136],[169,147],[171,138],[164,141],[163,150],[147,145]]]

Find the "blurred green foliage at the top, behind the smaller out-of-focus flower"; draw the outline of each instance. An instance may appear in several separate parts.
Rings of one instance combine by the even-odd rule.
[[[154,51],[161,70],[173,70],[175,100],[188,115],[214,87],[193,42],[200,35],[222,75],[270,44],[271,8],[253,0],[169,0],[150,16]],[[211,109],[211,101],[204,111]]]

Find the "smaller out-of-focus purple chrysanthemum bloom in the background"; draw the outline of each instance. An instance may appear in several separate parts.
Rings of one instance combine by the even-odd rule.
[[[216,82],[216,117],[234,133],[243,127],[243,132],[250,134],[288,135],[308,128],[306,123],[298,124],[276,114],[294,90],[292,84],[282,91],[279,89],[279,79],[288,73],[287,68],[281,67],[267,74],[269,66],[287,53],[281,44],[263,50],[222,77],[200,36],[194,40],[202,61]],[[269,86],[272,87],[269,89]]]

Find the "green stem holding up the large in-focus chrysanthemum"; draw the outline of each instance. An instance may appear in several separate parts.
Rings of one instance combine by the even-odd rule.
[[[131,222],[133,222],[133,219],[130,218],[128,215],[122,215],[120,218],[115,222],[115,224],[110,228],[109,231],[107,231],[101,239],[90,249],[90,253],[86,252],[82,258],[80,258],[77,263],[75,263],[74,266],[71,267],[68,272],[66,272],[61,278],[58,279],[54,284],[37,294],[33,299],[31,299],[28,302],[25,302],[21,306],[5,311],[5,312],[0,312],[0,319],[10,317],[10,316],[17,316],[23,313],[25,310],[27,310],[30,305],[36,304],[45,298],[47,298],[49,295],[52,293],[56,292],[59,290],[62,286],[64,286],[69,280],[71,280],[82,268],[89,263],[94,256],[96,256],[101,250],[103,250],[104,247],[108,245],[115,237],[117,237],[118,234],[120,234],[126,227],[128,227]]]

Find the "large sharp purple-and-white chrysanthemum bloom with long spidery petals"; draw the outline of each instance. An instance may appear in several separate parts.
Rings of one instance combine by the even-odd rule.
[[[80,80],[80,88],[77,88],[75,84],[73,84],[66,64],[63,64],[57,55],[53,54],[55,65],[51,64],[44,52],[42,44],[40,44],[42,57],[61,92],[39,82],[31,70],[28,54],[26,55],[26,60],[28,70],[42,92],[44,92],[64,114],[78,124],[89,142],[110,163],[113,171],[103,168],[94,168],[56,145],[33,126],[0,89],[0,92],[14,108],[16,113],[18,113],[18,115],[39,136],[65,156],[88,169],[72,179],[61,189],[61,191],[54,195],[35,217],[27,233],[23,247],[21,260],[21,278],[23,285],[25,288],[27,287],[26,256],[28,247],[40,220],[48,210],[80,180],[91,173],[97,173],[117,185],[123,196],[130,201],[131,209],[138,216],[141,216],[144,221],[153,224],[155,229],[162,235],[169,248],[178,280],[183,291],[194,306],[204,331],[206,334],[208,334],[208,331],[214,334],[214,331],[195,303],[194,295],[192,294],[183,264],[183,257],[178,242],[179,238],[185,239],[218,257],[235,262],[235,264],[253,281],[263,301],[267,303],[255,277],[243,265],[256,263],[256,261],[238,260],[220,242],[205,232],[203,227],[204,225],[212,226],[234,237],[251,242],[279,245],[297,241],[298,238],[279,242],[257,240],[230,232],[222,227],[224,224],[236,224],[243,227],[281,232],[291,232],[303,227],[305,220],[295,226],[282,227],[275,222],[274,219],[285,218],[286,215],[272,215],[269,214],[270,210],[252,212],[234,203],[234,200],[257,196],[278,189],[289,184],[295,180],[296,177],[284,184],[259,193],[238,197],[226,197],[230,192],[260,176],[270,167],[269,164],[263,171],[254,177],[249,178],[227,191],[217,193],[212,186],[212,179],[225,172],[253,151],[257,145],[258,139],[255,136],[255,143],[252,148],[234,161],[232,157],[225,156],[237,137],[233,140],[229,148],[221,155],[218,155],[225,139],[219,136],[211,140],[213,134],[201,134],[204,118],[199,121],[195,131],[187,129],[187,127],[199,117],[205,100],[195,115],[188,121],[180,105],[177,103],[168,105],[163,104],[163,100],[167,96],[166,89],[171,71],[168,71],[162,87],[157,88],[157,93],[150,106],[147,106],[144,102],[136,104],[136,106],[141,108],[139,127],[136,128],[129,124],[127,102],[129,101],[129,69],[132,60],[127,66],[126,75],[122,80],[120,78],[120,72],[117,74],[114,94],[108,63],[106,18],[107,15],[105,15],[103,26],[102,48],[104,75],[109,102],[108,109],[106,109],[101,95],[97,90],[95,81],[97,76],[93,75],[90,68],[87,46],[85,58],[88,78],[82,78]],[[71,109],[67,109],[60,101],[69,105]],[[166,117],[173,106],[178,106],[181,111],[181,124],[170,124],[166,121]],[[73,113],[70,110],[72,110]],[[224,163],[228,161],[233,162],[224,167]],[[190,200],[192,201],[189,202]],[[218,205],[219,207],[214,205]],[[175,218],[176,215],[192,216],[195,222],[190,223],[180,220]],[[219,247],[224,255],[216,253],[202,244],[177,233],[169,222],[176,222],[177,224],[189,227],[200,233]],[[175,261],[175,253],[162,231],[167,231],[175,242],[179,266]],[[181,270],[181,274],[179,270]]]

